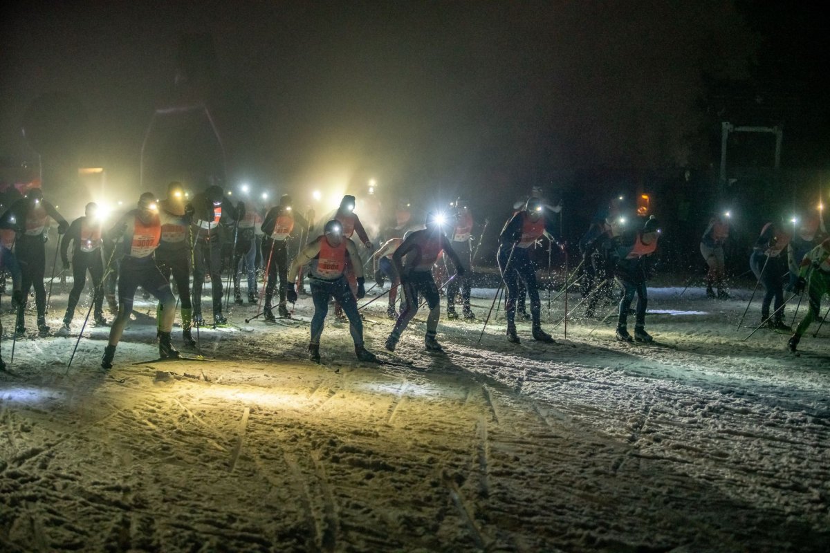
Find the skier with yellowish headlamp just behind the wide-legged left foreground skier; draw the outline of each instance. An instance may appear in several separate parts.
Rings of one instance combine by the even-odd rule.
[[[178,300],[182,304],[182,342],[187,347],[196,346],[191,327],[193,326],[193,303],[190,299],[190,273],[193,269],[191,250],[191,224],[193,206],[184,203],[184,187],[181,182],[170,182],[167,186],[167,198],[159,201],[159,221],[161,222],[161,239],[155,250],[156,264],[168,282],[173,282],[178,291]],[[157,309],[156,319],[159,332],[164,319],[161,304]]]

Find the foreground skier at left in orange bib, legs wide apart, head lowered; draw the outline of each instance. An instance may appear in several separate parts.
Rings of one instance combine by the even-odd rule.
[[[178,351],[170,343],[170,331],[176,318],[176,298],[170,289],[170,282],[161,274],[156,264],[154,251],[161,241],[159,208],[152,192],[139,197],[137,209],[129,211],[110,230],[109,236],[123,238],[125,255],[121,260],[118,275],[118,317],[110,328],[110,340],[101,358],[101,367],[112,368],[115,347],[121,339],[124,327],[133,312],[135,290],[140,286],[153,294],[162,304],[162,323],[159,331],[159,357],[178,357]]]

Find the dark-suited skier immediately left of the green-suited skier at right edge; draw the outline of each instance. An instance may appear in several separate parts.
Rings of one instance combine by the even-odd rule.
[[[761,322],[768,328],[776,330],[790,330],[784,324],[784,283],[782,276],[787,267],[784,255],[792,236],[784,225],[767,223],[761,229],[761,234],[755,240],[752,255],[749,256],[749,268],[755,278],[764,285],[764,300],[761,302]],[[769,318],[769,304],[775,299],[775,316],[771,321]]]

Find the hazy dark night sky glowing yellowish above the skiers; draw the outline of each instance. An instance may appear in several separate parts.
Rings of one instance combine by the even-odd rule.
[[[685,165],[702,71],[745,75],[756,47],[730,2],[17,2],[0,152],[31,157],[27,108],[60,92],[88,115],[84,163],[132,186],[186,33],[215,46],[228,180],[464,195]]]

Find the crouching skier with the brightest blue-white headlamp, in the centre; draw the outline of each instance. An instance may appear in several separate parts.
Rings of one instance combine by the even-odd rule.
[[[423,294],[429,306],[424,345],[432,352],[443,351],[441,344],[436,340],[438,318],[441,317],[441,297],[438,295],[435,279],[432,278],[432,265],[443,250],[456,266],[456,278],[464,276],[465,269],[452,249],[450,240],[444,235],[442,224],[442,216],[435,213],[427,215],[427,228],[413,231],[403,239],[403,243],[392,255],[392,263],[401,279],[406,304],[386,340],[386,349],[390,352],[394,351],[401,334],[417,313],[419,293]]]

